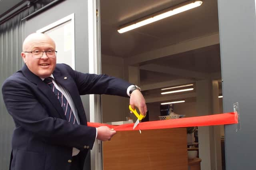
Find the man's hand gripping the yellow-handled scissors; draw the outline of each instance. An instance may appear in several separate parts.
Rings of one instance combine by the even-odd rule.
[[[132,109],[137,107],[142,115],[146,115],[148,111],[146,106],[146,101],[142,93],[138,89],[132,92],[130,96],[130,105]]]

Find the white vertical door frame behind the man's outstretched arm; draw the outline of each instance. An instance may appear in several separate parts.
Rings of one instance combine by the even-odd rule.
[[[100,74],[100,21],[98,0],[88,0],[89,73]],[[90,122],[102,122],[100,95],[90,95]],[[91,170],[102,170],[102,142],[95,140],[91,150]]]

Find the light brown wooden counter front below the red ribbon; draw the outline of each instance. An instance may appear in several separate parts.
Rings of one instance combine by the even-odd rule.
[[[104,170],[188,170],[186,128],[119,131],[103,142]]]

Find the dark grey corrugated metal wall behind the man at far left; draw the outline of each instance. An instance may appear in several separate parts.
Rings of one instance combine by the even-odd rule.
[[[15,73],[23,65],[20,52],[22,51],[23,23],[22,14],[0,25],[0,84]],[[1,88],[2,89],[2,88]],[[0,91],[0,169],[9,168],[11,139],[14,123],[6,111]]]

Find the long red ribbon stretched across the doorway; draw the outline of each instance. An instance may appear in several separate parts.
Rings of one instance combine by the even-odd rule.
[[[88,122],[89,127],[100,127],[107,126],[114,128],[116,131],[122,130],[149,130],[149,129],[161,129],[161,128],[177,128],[177,127],[200,127],[200,126],[211,126],[211,125],[228,125],[238,123],[237,113],[221,113],[215,115],[188,117],[180,119],[169,119],[164,121],[149,121],[139,123],[135,129],[133,128],[134,123],[124,125],[106,125],[101,123]]]

